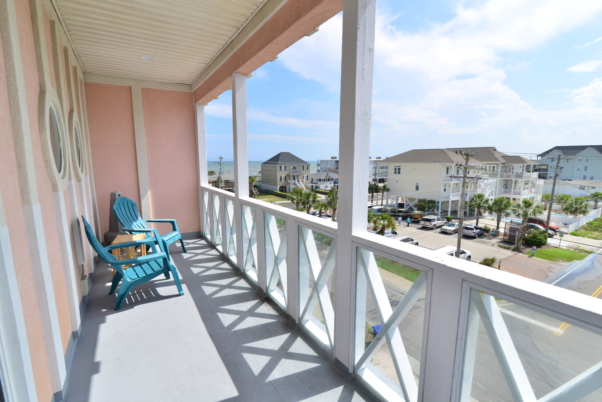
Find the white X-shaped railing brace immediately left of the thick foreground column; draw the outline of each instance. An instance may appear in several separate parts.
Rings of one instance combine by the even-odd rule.
[[[324,261],[311,229],[299,226],[299,322],[324,343],[326,348],[334,346],[334,308],[330,300],[328,281],[335,268],[337,254],[336,239],[332,239]],[[312,281],[310,289],[309,281]],[[309,292],[308,292],[309,290]],[[334,285],[333,289],[334,291]],[[313,316],[316,306],[320,307],[323,323]],[[315,331],[323,331],[323,334]],[[325,335],[326,337],[324,338]]]

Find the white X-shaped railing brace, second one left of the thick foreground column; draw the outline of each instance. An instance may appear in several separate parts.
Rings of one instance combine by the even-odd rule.
[[[287,233],[286,222],[279,230],[278,222],[274,215],[265,213],[265,277],[267,278],[267,294],[282,309],[287,310]],[[279,218],[281,219],[281,218]],[[283,219],[284,221],[284,219]],[[282,289],[278,287],[281,284]]]

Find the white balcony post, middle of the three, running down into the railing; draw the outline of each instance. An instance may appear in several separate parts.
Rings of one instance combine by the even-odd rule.
[[[249,198],[249,151],[247,145],[247,77],[232,73],[232,134],[234,136],[234,220],[242,228],[240,199]],[[243,231],[236,231],[236,260],[244,270]]]

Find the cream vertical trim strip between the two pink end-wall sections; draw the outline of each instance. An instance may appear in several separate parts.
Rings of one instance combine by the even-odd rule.
[[[140,86],[132,86],[132,110],[134,111],[138,187],[140,187],[140,213],[142,219],[151,219],[151,190],[149,185],[149,169],[146,162],[146,136],[144,134],[142,88]]]

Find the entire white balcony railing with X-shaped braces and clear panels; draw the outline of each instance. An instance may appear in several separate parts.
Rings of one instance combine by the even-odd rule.
[[[602,300],[200,190],[205,239],[382,400],[602,400]]]

